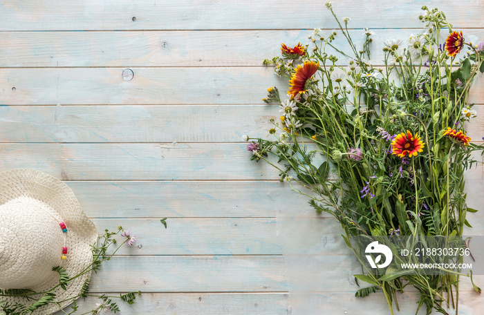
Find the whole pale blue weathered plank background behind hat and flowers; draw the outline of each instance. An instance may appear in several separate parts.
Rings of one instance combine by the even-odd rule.
[[[422,5],[444,10],[474,44],[484,39],[482,1],[333,1],[357,43],[362,28],[375,30],[375,66],[385,41],[422,32]],[[318,315],[388,314],[381,294],[354,297],[359,270],[337,222],[316,216],[270,166],[250,162],[242,140],[268,136],[279,108],[261,98],[269,86],[287,88],[262,60],[335,26],[319,0],[0,0],[0,170],[55,175],[99,231],[122,225],[138,236],[141,246],[121,249],[91,283],[98,293],[147,292],[120,304],[123,314],[279,315],[298,300]],[[479,114],[483,96],[480,75],[469,99]],[[484,136],[481,116],[469,126],[474,142]],[[484,168],[466,177],[469,207],[479,209]],[[484,235],[484,211],[468,217]],[[299,230],[281,230],[288,224]],[[296,257],[307,264],[291,265],[284,238],[308,244]],[[298,276],[307,296],[291,301]],[[467,279],[459,299],[461,315],[480,314]],[[415,301],[415,292],[399,296],[401,314],[414,314]]]

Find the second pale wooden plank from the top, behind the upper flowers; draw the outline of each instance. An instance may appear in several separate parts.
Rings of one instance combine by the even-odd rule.
[[[415,17],[417,19],[417,17]],[[459,29],[466,41],[484,39],[482,28]],[[371,61],[382,65],[382,48],[389,39],[402,39],[421,29],[377,29],[371,43]],[[333,30],[322,30],[328,37]],[[349,30],[357,48],[366,36],[362,30]],[[445,41],[443,30],[440,41]],[[263,59],[280,55],[281,43],[295,46],[310,43],[313,30],[232,30],[232,31],[140,31],[140,32],[3,32],[0,37],[2,67],[146,67],[146,66],[261,66]],[[315,35],[313,35],[316,37]],[[319,36],[316,38],[319,39]],[[319,41],[318,41],[319,42]],[[206,43],[210,43],[207,45]],[[346,38],[332,42],[339,50],[351,51]],[[314,47],[310,45],[310,49]],[[334,53],[326,47],[328,53]],[[337,64],[348,58],[336,54]]]

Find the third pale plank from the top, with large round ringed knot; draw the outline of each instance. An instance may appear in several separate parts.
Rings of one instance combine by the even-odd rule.
[[[0,104],[263,104],[266,88],[287,80],[273,68],[0,68]],[[484,78],[476,77],[469,103],[482,103]],[[261,97],[262,95],[262,97]],[[250,115],[250,113],[248,113]]]

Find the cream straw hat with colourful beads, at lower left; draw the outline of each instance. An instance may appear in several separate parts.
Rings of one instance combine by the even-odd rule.
[[[53,267],[66,269],[70,278],[80,274],[93,262],[90,245],[96,240],[93,222],[64,182],[31,169],[0,173],[0,289],[52,289],[59,284]],[[90,276],[89,272],[75,278],[65,290],[55,289],[55,300],[67,300],[60,307],[80,294]],[[1,300],[9,305],[33,303],[19,296],[0,296]],[[50,303],[33,314],[58,310]]]

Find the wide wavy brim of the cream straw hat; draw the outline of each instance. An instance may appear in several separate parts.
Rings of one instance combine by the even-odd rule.
[[[93,262],[91,245],[94,245],[97,240],[97,231],[93,222],[82,211],[72,189],[61,180],[33,169],[15,169],[0,173],[0,205],[22,196],[45,202],[56,211],[55,214],[59,215],[59,220],[66,223],[68,227],[68,233],[66,233],[68,259],[62,260],[62,264],[59,265],[66,269],[69,278],[80,274],[89,267]],[[91,272],[88,272],[71,280],[65,290],[60,286],[57,287],[53,293],[56,294],[55,300],[59,301],[59,306],[49,303],[32,314],[52,314],[59,311],[59,307],[64,308],[70,305],[73,302],[71,298],[82,292],[84,283],[88,282],[90,277]],[[46,292],[58,284],[59,278],[57,277],[41,287],[28,289],[35,292]],[[15,303],[31,305],[33,303],[33,300],[29,301],[19,296],[2,297],[1,300],[5,300],[9,305]]]

